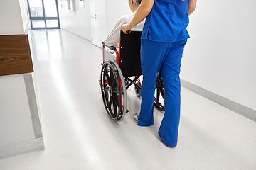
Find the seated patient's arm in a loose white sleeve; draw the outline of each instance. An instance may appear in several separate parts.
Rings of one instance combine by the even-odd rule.
[[[119,47],[119,38],[120,38],[120,30],[122,25],[126,23],[124,17],[122,17],[114,26],[113,30],[107,35],[105,44],[107,46],[114,46],[116,48]]]

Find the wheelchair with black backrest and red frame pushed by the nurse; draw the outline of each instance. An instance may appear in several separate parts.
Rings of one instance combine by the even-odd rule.
[[[122,121],[128,111],[127,89],[134,85],[134,91],[140,98],[142,68],[140,62],[142,32],[131,31],[125,34],[121,30],[119,52],[114,46],[102,42],[102,69],[100,72],[100,89],[107,115],[112,120]],[[108,50],[107,50],[108,48]],[[160,101],[161,99],[161,101]],[[164,84],[161,72],[156,79],[154,106],[164,111]]]

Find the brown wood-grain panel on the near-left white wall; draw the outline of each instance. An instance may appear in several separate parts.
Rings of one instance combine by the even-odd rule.
[[[0,35],[0,76],[33,72],[28,35]]]

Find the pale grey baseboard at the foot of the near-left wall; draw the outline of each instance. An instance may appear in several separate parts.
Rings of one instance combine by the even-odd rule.
[[[0,160],[44,149],[45,145],[43,142],[43,137],[18,142],[15,144],[0,147]]]

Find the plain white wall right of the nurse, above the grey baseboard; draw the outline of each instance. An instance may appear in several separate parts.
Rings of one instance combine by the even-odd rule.
[[[254,0],[198,1],[190,17],[191,38],[181,68],[181,79],[250,108],[253,114],[256,113],[255,6]]]

